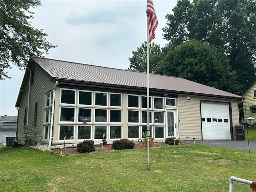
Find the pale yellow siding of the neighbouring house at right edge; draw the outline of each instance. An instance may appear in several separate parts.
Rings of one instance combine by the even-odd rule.
[[[256,98],[253,98],[253,90],[256,90],[256,83],[244,94],[244,121],[246,122],[246,118],[248,118],[250,115],[254,118],[254,120],[251,120],[251,122],[256,123],[256,113],[250,112],[249,106],[256,105]],[[249,106],[248,106],[249,105]]]

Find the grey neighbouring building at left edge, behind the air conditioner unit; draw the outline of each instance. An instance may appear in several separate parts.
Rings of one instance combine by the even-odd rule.
[[[0,117],[0,144],[6,142],[6,137],[16,137],[17,116]]]

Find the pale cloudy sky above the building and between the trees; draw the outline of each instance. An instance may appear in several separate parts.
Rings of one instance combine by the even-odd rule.
[[[162,28],[177,0],[153,0],[158,27],[155,44],[163,47]],[[57,48],[46,58],[127,69],[132,51],[146,41],[146,0],[41,0],[32,26],[43,29]],[[152,43],[151,42],[151,43]],[[12,65],[11,79],[0,81],[0,115],[17,116],[15,108],[24,72]]]

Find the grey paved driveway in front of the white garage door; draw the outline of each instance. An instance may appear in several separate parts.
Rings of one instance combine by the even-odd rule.
[[[194,144],[194,141],[190,140],[188,143]],[[233,141],[233,140],[204,140],[204,141],[198,141],[195,140],[196,144],[201,145],[209,145],[209,146],[217,146],[217,147],[226,147],[226,148],[233,148],[233,149],[242,149],[242,150],[249,150],[250,151],[256,151],[256,141]]]

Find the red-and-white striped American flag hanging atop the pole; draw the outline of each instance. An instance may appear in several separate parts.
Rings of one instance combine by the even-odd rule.
[[[155,30],[158,24],[157,18],[156,18],[156,12],[155,12],[152,0],[147,0],[146,12],[148,16],[148,37],[149,37],[149,42],[151,42],[152,39],[155,38]]]

